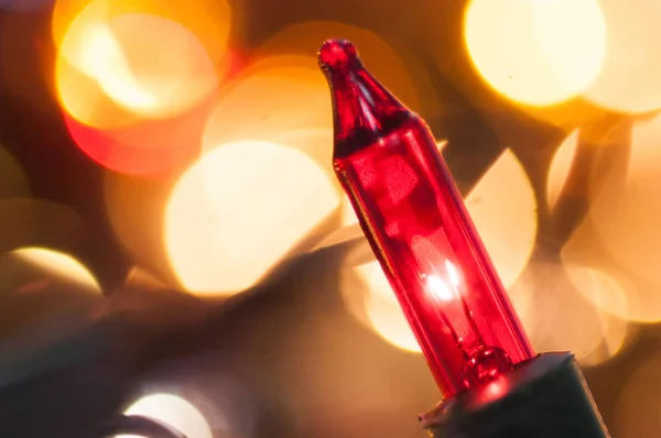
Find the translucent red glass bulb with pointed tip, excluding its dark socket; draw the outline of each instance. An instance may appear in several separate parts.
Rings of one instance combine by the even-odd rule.
[[[329,40],[334,167],[445,396],[533,350],[424,121]]]

